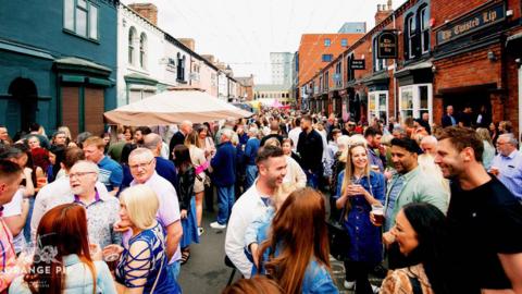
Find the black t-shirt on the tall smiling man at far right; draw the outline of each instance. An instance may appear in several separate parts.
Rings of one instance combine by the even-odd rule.
[[[522,205],[495,176],[462,191],[451,184],[448,209],[452,293],[511,289],[497,254],[522,253]]]

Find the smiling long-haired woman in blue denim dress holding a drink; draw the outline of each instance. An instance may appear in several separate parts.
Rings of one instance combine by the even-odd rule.
[[[348,147],[346,168],[337,179],[336,207],[341,209],[343,228],[350,240],[346,248],[345,287],[356,293],[377,292],[368,280],[369,272],[382,261],[381,229],[370,222],[372,206],[382,207],[385,179],[370,170],[368,149],[356,143]],[[357,287],[356,287],[357,284]]]

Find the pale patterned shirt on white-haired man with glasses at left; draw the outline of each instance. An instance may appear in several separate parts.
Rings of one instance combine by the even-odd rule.
[[[79,204],[87,210],[90,243],[97,243],[101,248],[111,244],[121,244],[122,234],[113,229],[114,223],[120,221],[120,201],[109,193],[101,193],[100,191],[97,191],[97,193],[98,197],[90,204],[83,203],[73,194],[54,198],[48,206],[47,211],[62,204]]]

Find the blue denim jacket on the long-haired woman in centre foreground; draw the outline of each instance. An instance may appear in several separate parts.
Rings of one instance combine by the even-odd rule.
[[[247,229],[245,233],[245,246],[247,248],[245,249],[245,252],[249,258],[251,258],[251,253],[248,252],[248,245],[253,242],[261,244],[263,241],[266,240],[274,215],[275,209],[273,207],[270,207],[266,213],[254,220]],[[277,256],[277,254],[278,249],[275,250],[274,256]],[[263,260],[265,261],[268,260],[268,258],[269,253],[266,250],[263,254]],[[257,271],[258,269],[256,267],[252,267],[252,275]],[[260,273],[264,274],[264,269],[261,269]],[[307,271],[304,272],[304,279],[302,281],[302,293],[338,293],[338,290],[335,286],[328,270],[324,266],[320,265],[316,260],[312,259],[310,261],[310,265],[307,267]]]

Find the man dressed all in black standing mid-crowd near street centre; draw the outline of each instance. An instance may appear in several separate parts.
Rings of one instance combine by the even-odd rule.
[[[310,115],[302,117],[301,128],[297,152],[301,157],[301,168],[307,174],[307,186],[318,188],[323,176],[323,138],[313,130]]]

